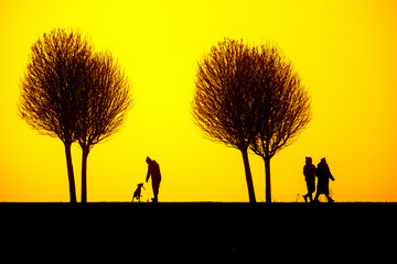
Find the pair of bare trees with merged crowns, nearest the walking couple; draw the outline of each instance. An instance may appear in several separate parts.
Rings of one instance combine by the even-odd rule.
[[[264,158],[271,201],[270,158],[311,120],[310,98],[291,63],[276,46],[225,38],[198,63],[192,112],[206,139],[242,152],[251,202],[248,147]]]

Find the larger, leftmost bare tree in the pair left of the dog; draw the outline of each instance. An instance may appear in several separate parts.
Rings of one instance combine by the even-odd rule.
[[[78,98],[87,85],[92,51],[79,33],[53,30],[33,44],[20,84],[20,117],[64,143],[71,202],[76,202],[71,145],[76,141]]]

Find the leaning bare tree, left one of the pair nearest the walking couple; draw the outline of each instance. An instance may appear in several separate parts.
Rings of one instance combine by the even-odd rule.
[[[206,139],[242,152],[249,201],[256,202],[248,146],[256,135],[257,50],[225,38],[198,63],[192,111]]]

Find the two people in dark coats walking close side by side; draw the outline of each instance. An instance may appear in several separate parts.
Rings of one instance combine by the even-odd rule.
[[[308,186],[308,194],[303,196],[304,201],[308,202],[308,198],[310,201],[313,201],[312,194],[315,190],[315,177],[318,177],[318,188],[314,197],[314,202],[319,202],[319,196],[321,194],[325,195],[329,202],[333,202],[334,200],[330,197],[330,188],[329,183],[330,179],[335,180],[332,176],[329,165],[326,164],[325,157],[321,158],[318,167],[312,163],[311,157],[305,157],[305,165],[303,167],[303,175]]]

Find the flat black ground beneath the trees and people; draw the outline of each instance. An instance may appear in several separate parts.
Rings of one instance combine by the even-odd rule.
[[[382,262],[394,254],[396,211],[367,202],[4,202],[1,251],[13,261]]]

